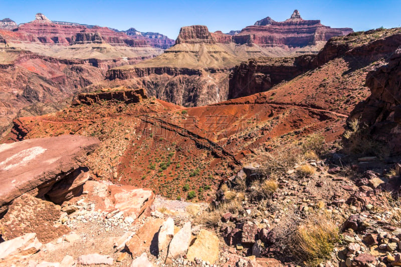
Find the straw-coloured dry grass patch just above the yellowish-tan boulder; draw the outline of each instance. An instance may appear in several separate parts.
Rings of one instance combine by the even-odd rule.
[[[208,210],[205,210],[198,216],[198,221],[208,227],[217,228],[221,223],[223,214],[227,212],[238,214],[241,210],[243,210],[242,201],[233,200],[225,202],[220,204],[218,207],[209,207]]]

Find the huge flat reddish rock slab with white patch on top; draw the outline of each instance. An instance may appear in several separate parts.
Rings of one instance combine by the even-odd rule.
[[[0,213],[13,199],[36,189],[47,193],[57,180],[77,169],[100,141],[61,135],[0,145]]]

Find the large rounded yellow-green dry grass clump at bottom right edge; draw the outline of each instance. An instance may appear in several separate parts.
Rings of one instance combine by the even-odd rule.
[[[339,239],[338,227],[332,219],[315,214],[297,227],[292,238],[292,253],[307,266],[316,266],[330,258]]]

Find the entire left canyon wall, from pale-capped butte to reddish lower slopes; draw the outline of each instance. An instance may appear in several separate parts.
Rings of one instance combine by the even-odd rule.
[[[0,25],[14,24],[6,19]],[[133,39],[105,27],[54,23],[39,13],[35,21],[10,30],[0,30],[0,133],[21,109],[32,115],[57,111],[64,107],[64,99],[102,81],[108,69],[162,52],[151,47],[147,37]]]

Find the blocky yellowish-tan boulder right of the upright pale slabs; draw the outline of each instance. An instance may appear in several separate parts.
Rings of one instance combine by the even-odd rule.
[[[186,257],[190,261],[196,257],[214,264],[219,260],[219,237],[215,233],[201,229],[193,244],[189,246]]]

